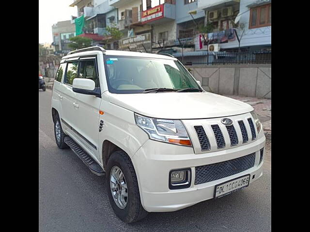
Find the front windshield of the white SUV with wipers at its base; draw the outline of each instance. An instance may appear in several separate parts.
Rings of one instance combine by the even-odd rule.
[[[176,92],[181,89],[202,91],[178,60],[105,56],[104,61],[111,93]]]

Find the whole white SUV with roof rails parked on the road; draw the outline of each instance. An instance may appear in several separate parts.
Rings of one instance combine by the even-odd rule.
[[[248,187],[265,137],[253,108],[206,92],[172,56],[68,53],[52,94],[59,148],[98,175],[115,214],[134,222]]]

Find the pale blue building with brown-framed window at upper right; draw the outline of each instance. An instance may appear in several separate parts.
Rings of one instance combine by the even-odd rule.
[[[271,50],[271,0],[198,0],[214,26],[208,44],[220,50]]]

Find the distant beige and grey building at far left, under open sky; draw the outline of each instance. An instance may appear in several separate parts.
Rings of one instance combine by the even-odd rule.
[[[53,43],[55,54],[64,55],[71,49],[68,47],[69,39],[76,35],[75,26],[70,20],[61,21],[52,26]]]

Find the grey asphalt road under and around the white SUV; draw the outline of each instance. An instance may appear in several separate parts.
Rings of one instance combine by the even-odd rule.
[[[39,90],[39,232],[271,231],[271,145],[263,176],[248,188],[170,213],[126,224],[114,215],[104,176],[89,171],[54,138],[51,91]]]

